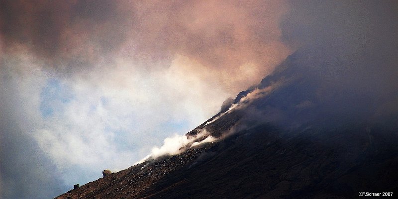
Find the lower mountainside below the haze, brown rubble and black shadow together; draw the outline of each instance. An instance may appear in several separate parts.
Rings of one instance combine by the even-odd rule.
[[[58,198],[322,199],[397,193],[397,139],[391,139],[390,129],[347,128],[325,136],[258,126],[144,169],[136,165]],[[381,132],[386,137],[374,136]]]

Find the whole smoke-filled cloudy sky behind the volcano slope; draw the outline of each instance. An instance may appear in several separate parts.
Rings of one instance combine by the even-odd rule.
[[[394,95],[397,13],[394,1],[0,0],[0,197],[52,198],[126,169],[297,49],[345,63],[314,70],[337,74],[330,85]]]

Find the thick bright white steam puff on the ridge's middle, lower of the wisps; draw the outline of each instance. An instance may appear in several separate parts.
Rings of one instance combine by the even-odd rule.
[[[185,152],[187,149],[193,146],[216,141],[216,138],[209,134],[210,133],[206,129],[200,129],[199,133],[195,136],[188,137],[187,135],[175,134],[172,137],[167,137],[161,147],[153,147],[150,155],[146,156],[144,159],[135,164],[140,164],[148,160],[156,160],[159,157],[166,155],[177,155]]]

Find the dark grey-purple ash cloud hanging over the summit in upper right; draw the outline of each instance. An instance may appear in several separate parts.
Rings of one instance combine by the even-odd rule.
[[[292,6],[296,9],[282,23],[283,35],[301,46],[294,56],[303,73],[321,85],[319,96],[332,94],[331,106],[355,108],[362,115],[366,112],[361,109],[376,114],[397,102],[396,1],[304,1]],[[383,111],[397,113],[397,105],[390,108]]]

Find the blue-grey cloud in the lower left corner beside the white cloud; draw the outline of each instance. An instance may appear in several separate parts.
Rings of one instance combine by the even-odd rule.
[[[0,197],[53,198],[68,189],[50,159],[31,138],[35,126],[12,77],[0,73]]]

